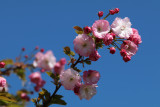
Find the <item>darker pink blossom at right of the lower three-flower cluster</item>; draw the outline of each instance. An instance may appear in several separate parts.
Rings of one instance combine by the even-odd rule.
[[[83,81],[85,84],[97,84],[100,79],[100,73],[95,70],[88,70],[83,72]]]

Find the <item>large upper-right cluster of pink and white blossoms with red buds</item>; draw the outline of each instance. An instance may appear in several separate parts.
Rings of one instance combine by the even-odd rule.
[[[109,15],[113,15],[113,12],[118,13],[119,9],[110,10]],[[98,16],[103,16],[102,11],[98,13]],[[84,27],[81,33],[78,33],[73,42],[75,52],[81,56],[89,56],[92,61],[97,61],[100,58],[98,49],[108,46],[111,54],[114,54],[118,48],[123,60],[128,62],[136,54],[138,45],[142,43],[138,30],[131,28],[128,17],[124,19],[117,17],[111,26],[105,18],[96,20],[92,27],[87,26],[88,29],[91,28],[90,32],[86,33],[87,28]]]

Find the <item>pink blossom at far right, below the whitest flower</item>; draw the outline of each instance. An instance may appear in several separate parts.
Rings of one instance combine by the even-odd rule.
[[[130,40],[125,40],[124,43],[121,45],[121,49],[126,50],[128,56],[135,55],[138,50],[137,45]]]

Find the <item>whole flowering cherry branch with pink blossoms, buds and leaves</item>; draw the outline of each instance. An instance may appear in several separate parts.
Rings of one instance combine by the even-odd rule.
[[[33,71],[29,75],[29,79],[35,84],[34,90],[39,92],[38,98],[32,99],[36,106],[48,107],[51,104],[62,104],[66,105],[65,101],[61,98],[61,95],[56,94],[61,86],[66,90],[71,90],[80,99],[90,100],[96,93],[96,88],[98,87],[98,81],[100,79],[100,73],[96,70],[80,70],[76,67],[77,64],[82,64],[83,68],[85,64],[90,65],[92,61],[98,61],[101,58],[99,54],[99,49],[107,47],[111,54],[115,54],[117,49],[120,51],[120,55],[123,57],[125,62],[131,60],[142,43],[141,36],[137,29],[131,27],[131,22],[128,17],[125,18],[115,18],[112,24],[110,24],[106,18],[110,15],[119,13],[119,9],[115,8],[109,10],[109,13],[104,16],[103,11],[98,12],[99,19],[96,20],[92,26],[85,26],[83,28],[75,26],[77,36],[73,40],[74,50],[78,54],[76,58],[75,53],[66,46],[64,47],[64,53],[69,56],[70,60],[67,63],[65,58],[61,58],[56,62],[56,57],[52,51],[47,51],[44,53],[44,49],[39,49],[36,46],[28,55],[25,55],[24,61],[22,61],[22,52],[25,52],[25,48],[21,49],[20,55],[13,60],[0,61],[0,68],[2,68],[1,75],[9,76],[11,72],[17,74],[20,79],[26,81],[25,69],[29,68]],[[39,50],[36,54],[35,51]],[[32,64],[27,63],[27,61],[32,60],[34,56],[34,61]],[[65,69],[65,65],[68,65],[68,69]],[[37,71],[41,71],[38,72]],[[36,72],[34,72],[36,70]],[[46,89],[43,88],[45,85],[45,80],[42,79],[41,73],[45,72],[52,78],[52,83],[55,85],[55,91],[51,95]],[[26,84],[25,84],[26,85]],[[24,87],[25,88],[25,87]],[[6,79],[0,77],[0,92],[6,92],[8,86]],[[16,97],[21,98],[22,102],[30,101],[28,94],[33,91],[27,91],[27,89],[22,89],[17,92]],[[40,101],[41,100],[41,101]],[[22,103],[21,102],[21,103]],[[42,102],[42,103],[40,103]],[[19,103],[18,103],[19,104]]]

